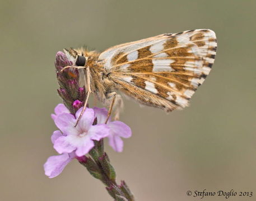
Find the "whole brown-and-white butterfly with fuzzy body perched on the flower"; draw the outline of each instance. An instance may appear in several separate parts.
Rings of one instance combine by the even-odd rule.
[[[82,48],[64,52],[73,62],[66,68],[83,69],[85,106],[94,93],[101,103],[110,106],[108,118],[115,108],[117,119],[123,106],[118,90],[166,112],[188,106],[211,71],[216,48],[215,32],[198,29],[128,42],[101,53]]]

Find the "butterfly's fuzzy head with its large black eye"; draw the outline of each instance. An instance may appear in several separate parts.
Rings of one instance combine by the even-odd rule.
[[[71,60],[76,66],[85,66],[88,57],[83,54],[83,51],[74,50],[72,48],[64,49],[68,60]]]

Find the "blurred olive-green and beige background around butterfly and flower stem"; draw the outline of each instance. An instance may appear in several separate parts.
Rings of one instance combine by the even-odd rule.
[[[214,30],[218,48],[190,107],[167,115],[125,100],[122,121],[133,136],[121,154],[106,151],[136,200],[199,200],[186,192],[203,189],[253,192],[230,200],[255,200],[255,7],[249,0],[2,0],[0,200],[112,200],[75,160],[57,178],[44,175],[44,162],[57,154],[50,142],[50,113],[61,102],[57,51],[103,51],[196,28]]]

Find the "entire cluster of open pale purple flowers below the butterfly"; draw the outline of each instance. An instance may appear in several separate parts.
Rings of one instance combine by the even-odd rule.
[[[80,102],[74,102],[73,106],[77,106]],[[109,145],[117,152],[123,151],[123,141],[121,137],[131,137],[132,132],[125,123],[113,121],[109,119],[105,125],[108,111],[106,108],[94,109],[86,108],[82,118],[76,121],[80,116],[83,108],[78,109],[75,116],[71,114],[64,104],[58,104],[52,114],[52,118],[59,128],[54,131],[51,137],[54,149],[60,155],[50,156],[44,164],[45,175],[54,178],[62,173],[64,167],[73,159],[85,162],[85,156],[94,147],[94,141],[108,137]],[[92,125],[97,117],[97,125]]]

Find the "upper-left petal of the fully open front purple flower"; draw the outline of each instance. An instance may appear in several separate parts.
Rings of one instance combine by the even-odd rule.
[[[75,135],[75,133],[77,133],[75,128],[76,119],[72,114],[59,114],[57,118],[55,118],[54,122],[59,130],[67,135]]]

